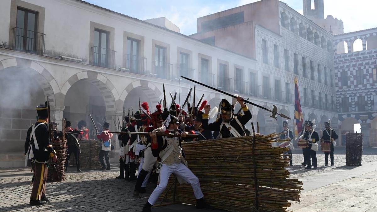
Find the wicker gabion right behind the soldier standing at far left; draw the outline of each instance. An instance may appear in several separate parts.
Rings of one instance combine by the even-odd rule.
[[[66,175],[64,172],[64,163],[66,163],[66,154],[67,154],[67,141],[66,140],[55,140],[52,143],[52,146],[54,146],[56,156],[58,157],[58,161],[55,163],[56,170],[58,171],[58,175],[60,178],[60,181],[63,181],[66,179]],[[51,162],[50,162],[51,163]],[[52,177],[52,166],[49,164],[48,172],[47,172],[47,181],[48,182],[55,182],[58,180],[54,180]]]

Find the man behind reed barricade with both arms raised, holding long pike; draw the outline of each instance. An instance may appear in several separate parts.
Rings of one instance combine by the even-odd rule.
[[[245,136],[245,124],[251,119],[251,112],[244,103],[242,97],[237,97],[237,101],[241,104],[244,115],[235,116],[234,106],[231,105],[226,99],[221,100],[221,118],[213,123],[208,124],[208,114],[211,110],[209,104],[204,106],[205,114],[202,115],[203,123],[202,127],[208,131],[220,131],[221,138],[240,137]]]

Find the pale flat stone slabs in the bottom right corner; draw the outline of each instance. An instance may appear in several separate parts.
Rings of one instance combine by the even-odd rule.
[[[301,194],[288,209],[297,212],[377,212],[377,171]]]

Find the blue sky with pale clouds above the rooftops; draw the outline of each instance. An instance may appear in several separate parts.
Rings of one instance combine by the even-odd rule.
[[[182,34],[196,33],[196,18],[257,0],[86,0],[86,2],[141,20],[166,17]],[[302,0],[285,0],[302,14]],[[324,0],[325,17],[342,19],[344,32],[377,27],[377,0]],[[357,9],[355,9],[357,8]]]

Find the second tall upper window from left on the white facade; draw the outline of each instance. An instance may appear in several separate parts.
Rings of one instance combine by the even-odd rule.
[[[93,65],[107,67],[109,61],[109,32],[94,29]]]

